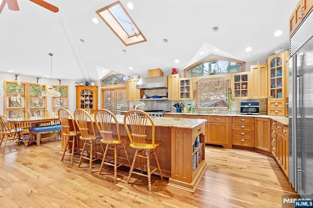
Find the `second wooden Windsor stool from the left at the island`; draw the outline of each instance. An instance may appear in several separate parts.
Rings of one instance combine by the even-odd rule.
[[[94,124],[91,120],[89,113],[84,109],[76,109],[74,111],[75,123],[80,131],[79,139],[84,141],[84,146],[79,158],[78,167],[82,164],[82,159],[89,160],[89,172],[92,172],[92,162],[101,157],[98,156],[101,153],[96,151],[96,146],[100,143],[97,143],[96,132]],[[91,129],[89,129],[89,126]],[[90,132],[89,132],[90,130]],[[88,150],[89,146],[89,150]],[[94,157],[93,157],[94,155]],[[102,155],[102,154],[101,154]]]

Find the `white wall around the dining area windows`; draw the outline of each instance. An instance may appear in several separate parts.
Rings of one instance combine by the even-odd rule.
[[[40,76],[38,76],[40,77]],[[5,73],[0,72],[0,86],[4,88],[3,81],[15,81],[14,73]],[[42,84],[46,84],[47,87],[50,87],[51,80],[49,78],[42,78]],[[20,75],[20,81],[23,83],[37,83],[37,77]],[[56,85],[59,81],[52,79],[52,84]],[[61,80],[61,85],[68,85],[68,110],[73,113],[76,109],[76,88],[74,85],[74,80]],[[4,97],[0,96],[0,114],[4,114]],[[52,110],[52,98],[47,98],[47,110]]]

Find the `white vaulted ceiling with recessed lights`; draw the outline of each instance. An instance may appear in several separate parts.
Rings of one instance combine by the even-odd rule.
[[[109,73],[147,76],[148,69],[183,70],[210,56],[245,62],[288,49],[288,20],[298,0],[120,0],[147,42],[125,46],[96,10],[116,0],[29,0],[0,13],[0,71],[97,81]],[[99,20],[98,24],[92,18]],[[218,26],[214,32],[212,28]],[[274,37],[274,32],[283,34]],[[168,41],[165,42],[164,39]],[[247,46],[252,47],[246,52]],[[214,51],[218,49],[219,51]],[[123,50],[126,50],[123,51]],[[199,55],[200,52],[203,54]],[[180,62],[174,62],[178,59]],[[130,70],[129,67],[133,67]]]

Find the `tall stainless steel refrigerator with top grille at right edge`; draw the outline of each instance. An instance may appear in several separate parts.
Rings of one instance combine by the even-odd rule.
[[[313,198],[313,12],[290,38],[289,180]]]

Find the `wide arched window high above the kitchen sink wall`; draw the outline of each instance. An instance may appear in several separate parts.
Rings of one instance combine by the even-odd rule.
[[[185,77],[199,77],[245,71],[245,62],[233,59],[211,59],[197,62],[184,69]]]

